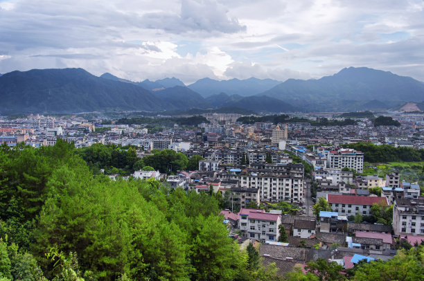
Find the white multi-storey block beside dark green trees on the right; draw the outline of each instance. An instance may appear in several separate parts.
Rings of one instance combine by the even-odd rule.
[[[348,167],[358,173],[364,170],[364,154],[355,149],[335,149],[328,153],[327,167],[339,168]]]

